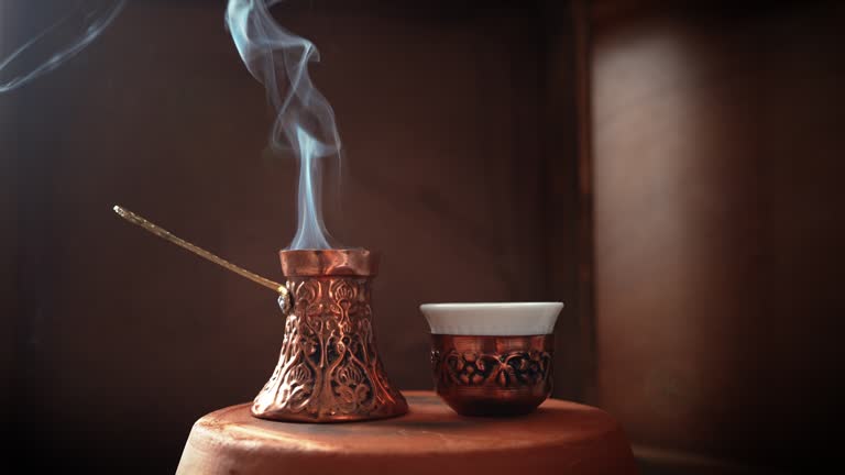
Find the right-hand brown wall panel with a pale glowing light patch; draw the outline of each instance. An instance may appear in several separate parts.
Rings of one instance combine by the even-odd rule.
[[[656,468],[806,473],[842,415],[845,9],[593,7],[594,400]]]

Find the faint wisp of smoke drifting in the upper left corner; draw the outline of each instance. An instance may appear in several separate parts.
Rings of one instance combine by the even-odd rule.
[[[0,57],[0,93],[24,86],[76,56],[106,30],[124,5],[125,0],[79,2],[72,13],[8,56]]]

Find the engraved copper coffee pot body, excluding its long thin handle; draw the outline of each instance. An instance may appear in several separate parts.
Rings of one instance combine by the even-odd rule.
[[[273,375],[255,397],[262,419],[342,422],[407,412],[391,386],[373,333],[370,251],[281,251],[287,278],[279,306],[285,335]]]

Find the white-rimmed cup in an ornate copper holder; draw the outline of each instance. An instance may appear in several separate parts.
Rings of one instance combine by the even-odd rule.
[[[435,390],[463,416],[515,416],[551,393],[561,302],[425,303]]]

